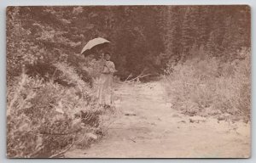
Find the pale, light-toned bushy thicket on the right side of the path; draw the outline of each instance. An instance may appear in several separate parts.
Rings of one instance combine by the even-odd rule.
[[[241,58],[189,59],[169,65],[166,70],[166,93],[174,108],[188,115],[223,115],[250,118],[251,72],[250,51],[239,52]]]

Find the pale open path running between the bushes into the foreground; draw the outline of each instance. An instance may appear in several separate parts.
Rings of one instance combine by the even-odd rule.
[[[124,84],[119,118],[108,135],[90,149],[73,149],[66,157],[190,158],[248,157],[250,125],[189,117],[166,103],[160,82]]]

